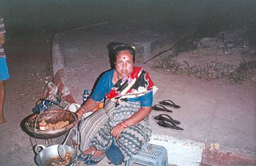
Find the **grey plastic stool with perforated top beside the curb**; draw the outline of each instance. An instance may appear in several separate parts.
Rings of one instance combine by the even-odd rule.
[[[138,154],[126,161],[125,166],[131,166],[132,163],[168,166],[167,150],[163,146],[144,144]]]

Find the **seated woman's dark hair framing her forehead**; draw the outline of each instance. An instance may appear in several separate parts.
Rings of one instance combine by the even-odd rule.
[[[131,45],[112,42],[107,45],[107,48],[108,48],[109,60],[111,62],[111,67],[113,67],[112,65],[115,66],[116,58],[122,50],[129,51],[130,54],[132,55],[132,60],[135,62],[135,50],[134,48],[131,47]]]

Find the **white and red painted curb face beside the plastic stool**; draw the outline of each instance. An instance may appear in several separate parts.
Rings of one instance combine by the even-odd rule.
[[[159,134],[153,134],[149,143],[161,145],[167,149],[169,164],[190,166],[256,165],[255,153],[231,149],[218,144],[208,145]]]

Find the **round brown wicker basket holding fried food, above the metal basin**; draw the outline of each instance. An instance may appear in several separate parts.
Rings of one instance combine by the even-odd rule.
[[[39,130],[38,123],[45,120],[48,123],[57,123],[60,121],[68,121],[69,124],[62,128],[57,128],[54,130]],[[47,110],[41,113],[32,114],[26,121],[25,127],[29,132],[30,136],[36,137],[37,139],[53,139],[60,137],[70,131],[77,123],[77,116],[68,110],[55,109]],[[36,126],[35,126],[36,123]]]

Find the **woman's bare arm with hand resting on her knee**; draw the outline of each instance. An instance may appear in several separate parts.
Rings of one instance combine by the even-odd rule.
[[[138,112],[136,112],[135,114],[133,114],[130,118],[113,127],[110,132],[111,135],[115,137],[115,139],[117,140],[120,137],[121,132],[125,130],[126,127],[135,125],[142,121],[145,117],[147,117],[150,114],[151,110],[152,107],[141,107],[141,109],[138,110]]]

